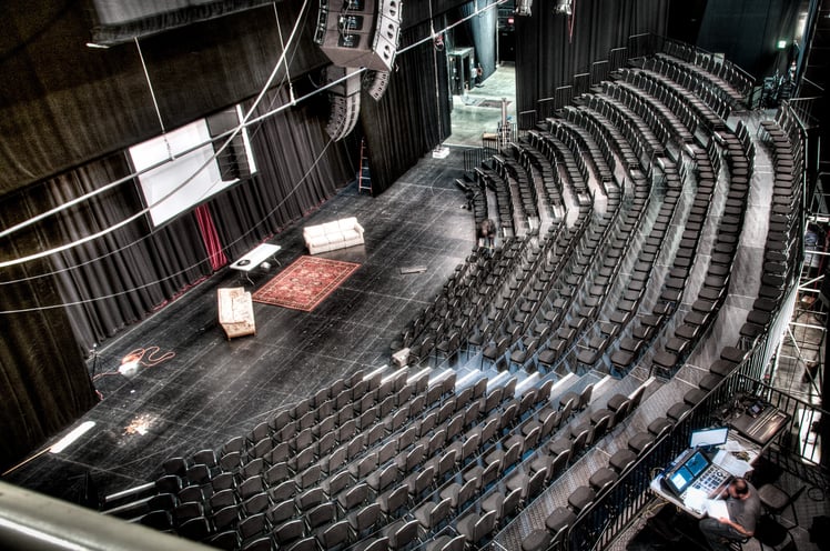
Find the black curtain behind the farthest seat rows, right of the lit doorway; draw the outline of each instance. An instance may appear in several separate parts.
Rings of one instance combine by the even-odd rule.
[[[573,0],[573,16],[554,12],[554,0],[536,1],[533,17],[516,18],[517,112],[538,113],[575,74],[608,60],[614,48],[641,33],[665,34],[664,0]]]

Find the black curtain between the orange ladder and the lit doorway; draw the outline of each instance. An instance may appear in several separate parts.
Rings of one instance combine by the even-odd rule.
[[[406,48],[432,30],[422,23],[402,34]],[[451,132],[446,51],[427,40],[398,53],[383,98],[375,102],[364,93],[361,99],[361,126],[368,146],[372,190],[379,193]]]

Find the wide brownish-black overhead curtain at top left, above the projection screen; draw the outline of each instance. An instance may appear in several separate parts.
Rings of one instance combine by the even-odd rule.
[[[87,46],[94,22],[84,2],[8,0],[0,18],[0,73],[9,76],[0,80],[0,194],[161,133],[150,86],[166,130],[255,97],[303,1],[99,49]],[[293,79],[327,63],[312,43],[316,14],[312,0],[290,48]]]

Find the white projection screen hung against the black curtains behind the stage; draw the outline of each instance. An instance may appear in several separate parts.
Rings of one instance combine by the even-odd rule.
[[[242,138],[244,152],[240,153],[250,160],[252,170],[255,170],[244,130]],[[220,140],[219,143],[222,142],[223,140]],[[184,153],[202,143],[204,146]],[[211,134],[204,120],[130,148],[133,167],[139,172],[163,163],[139,176],[153,226],[163,224],[239,181],[239,178],[227,176],[223,180],[220,166],[213,156]],[[166,197],[168,194],[170,197]]]

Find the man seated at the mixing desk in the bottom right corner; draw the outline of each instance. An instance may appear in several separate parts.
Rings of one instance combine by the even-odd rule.
[[[721,494],[721,498],[723,494]],[[726,504],[729,517],[701,519],[699,527],[712,551],[728,551],[727,540],[743,540],[755,534],[755,527],[761,515],[761,500],[758,490],[746,479],[732,480],[726,489]]]

